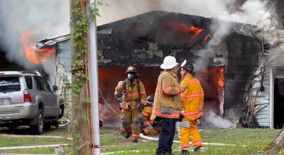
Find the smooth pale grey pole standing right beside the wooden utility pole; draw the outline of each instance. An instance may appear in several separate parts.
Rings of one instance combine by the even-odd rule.
[[[96,0],[89,0],[89,4],[96,4]],[[87,5],[87,16],[91,15],[93,5]],[[89,23],[88,55],[89,55],[89,85],[92,100],[92,144],[93,154],[100,154],[99,146],[99,92],[98,92],[98,69],[97,69],[97,23]]]

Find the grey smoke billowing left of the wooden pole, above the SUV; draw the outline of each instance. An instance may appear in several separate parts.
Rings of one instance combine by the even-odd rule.
[[[70,33],[68,27],[69,0],[28,0],[0,2],[0,46],[6,58],[22,65],[27,70],[43,66],[46,73],[53,76],[55,53],[43,64],[31,63],[26,53],[20,50],[30,47],[31,43],[45,38],[53,38]],[[23,36],[22,39],[21,36]],[[32,47],[31,47],[32,48]],[[40,56],[40,53],[36,53]],[[39,61],[42,57],[38,57]]]

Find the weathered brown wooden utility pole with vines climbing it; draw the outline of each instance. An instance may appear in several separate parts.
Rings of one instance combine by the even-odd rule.
[[[77,0],[70,0],[70,28],[71,33],[70,36],[75,36],[75,33],[73,32],[74,28],[80,28],[76,24],[76,21],[80,21],[80,15],[77,14],[75,11],[72,11],[73,9],[80,8],[85,10],[84,2],[76,4]],[[78,38],[71,38],[71,64],[75,64],[75,54],[80,53],[78,46],[73,46],[77,41],[80,41],[80,37]],[[84,41],[82,41],[84,42]],[[87,58],[86,55],[83,53],[80,55],[79,58],[77,58],[80,62],[82,62],[83,65],[86,65],[87,67]],[[87,70],[86,70],[87,71]],[[86,72],[87,73],[87,72]],[[74,134],[73,134],[73,141],[75,141],[75,144],[73,144],[73,149],[75,150],[75,154],[82,154],[82,155],[92,155],[92,133],[91,133],[91,127],[92,127],[92,119],[90,114],[90,105],[87,102],[84,102],[84,99],[89,97],[89,87],[88,82],[86,78],[77,77],[77,75],[72,75],[72,84],[80,84],[80,92],[77,92],[74,88],[74,85],[72,85],[72,92],[75,95],[72,95],[72,110],[73,110],[73,120],[72,123],[74,123]],[[77,106],[79,105],[79,106]],[[78,108],[79,107],[79,108]],[[87,117],[87,119],[82,118],[82,115]]]

